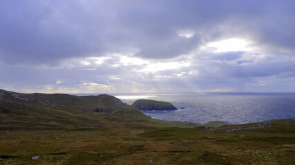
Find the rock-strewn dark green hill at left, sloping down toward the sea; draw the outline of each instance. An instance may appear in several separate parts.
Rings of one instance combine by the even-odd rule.
[[[129,124],[175,125],[149,118],[129,104],[106,94],[19,94],[0,90],[0,129],[56,130]]]

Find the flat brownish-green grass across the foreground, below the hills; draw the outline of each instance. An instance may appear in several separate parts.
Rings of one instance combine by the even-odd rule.
[[[0,159],[1,164],[294,164],[295,120],[272,125],[231,133],[225,130],[235,125],[211,130],[150,124],[145,129],[122,124],[105,129],[1,130]],[[40,159],[32,160],[34,155]]]

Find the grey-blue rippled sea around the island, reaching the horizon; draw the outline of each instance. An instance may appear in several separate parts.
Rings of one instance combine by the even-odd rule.
[[[142,111],[152,118],[166,121],[225,121],[232,124],[295,118],[295,93],[198,93],[198,94],[115,94],[132,104],[145,98],[171,102],[175,111]]]

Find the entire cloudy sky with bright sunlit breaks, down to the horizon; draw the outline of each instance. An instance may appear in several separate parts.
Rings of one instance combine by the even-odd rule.
[[[295,1],[0,1],[0,89],[295,91]]]

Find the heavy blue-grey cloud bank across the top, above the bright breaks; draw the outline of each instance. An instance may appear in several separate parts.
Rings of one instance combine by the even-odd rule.
[[[294,1],[1,1],[0,58],[9,63],[139,50],[171,58],[240,34],[294,49]],[[228,26],[223,30],[222,26]],[[195,34],[186,39],[180,30]]]

